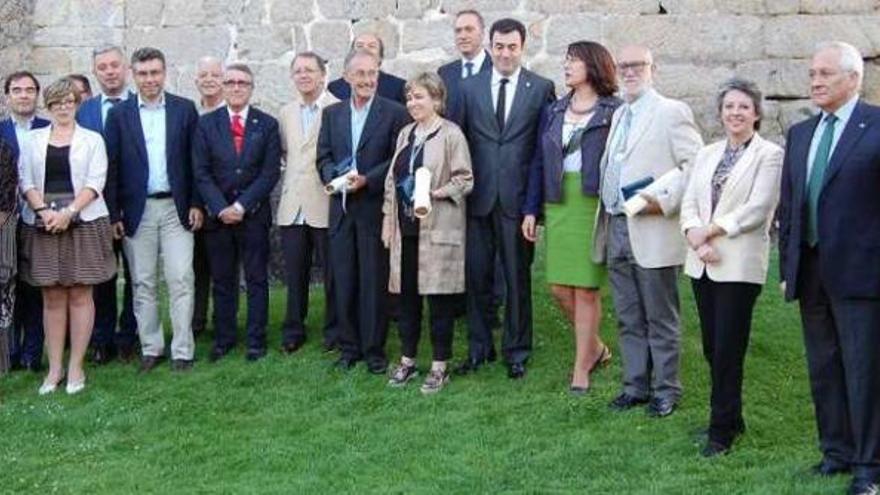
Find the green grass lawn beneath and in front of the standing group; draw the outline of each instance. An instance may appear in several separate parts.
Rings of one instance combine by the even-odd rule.
[[[775,271],[774,268],[771,272]],[[394,390],[363,366],[331,368],[309,315],[310,340],[295,357],[278,352],[284,294],[272,291],[269,356],[243,351],[195,369],[133,365],[88,369],[85,393],[38,397],[42,376],[0,382],[3,493],[842,493],[848,480],[817,479],[819,459],[796,307],[775,277],[758,300],[746,362],[748,433],[731,455],[699,456],[694,431],[707,423],[707,367],[689,283],[682,277],[680,409],[654,420],[616,414],[620,360],[610,299],[603,336],[613,364],[583,398],[567,393],[568,324],[535,264],[535,338],[529,374],[511,382],[500,364],[423,397]],[[315,293],[320,304],[320,295]],[[315,308],[318,309],[318,308]],[[423,342],[427,344],[427,335]],[[465,355],[465,328],[456,359]],[[398,354],[396,328],[389,356]],[[420,364],[429,363],[427,345]]]

